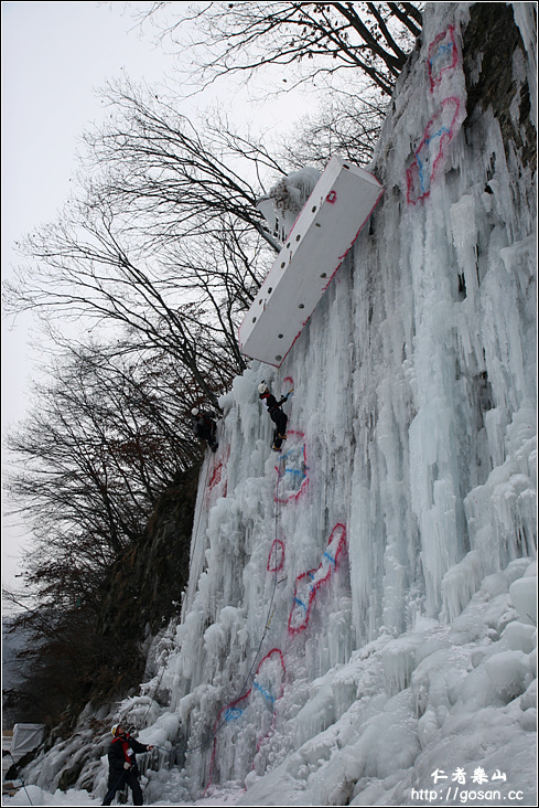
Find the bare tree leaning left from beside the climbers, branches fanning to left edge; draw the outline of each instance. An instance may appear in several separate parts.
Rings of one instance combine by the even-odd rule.
[[[78,222],[34,233],[24,249],[37,263],[4,285],[6,310],[84,318],[99,330],[122,328],[141,350],[174,358],[218,406],[222,379],[213,379],[213,371],[222,375],[224,358],[204,333],[200,311],[182,299],[177,273],[160,277],[158,267],[136,263],[120,238],[112,216],[91,206]]]

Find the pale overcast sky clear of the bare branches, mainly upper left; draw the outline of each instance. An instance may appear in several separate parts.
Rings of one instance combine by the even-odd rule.
[[[53,221],[63,206],[77,168],[79,137],[104,115],[98,89],[105,81],[127,75],[153,85],[173,75],[172,57],[149,35],[141,35],[126,7],[123,2],[1,4],[2,277],[17,263],[13,243]],[[282,99],[273,107],[272,119],[290,120],[291,104],[294,113],[301,108],[298,99]],[[36,366],[31,332],[30,318],[18,320],[12,330],[2,318],[2,430],[24,414]],[[14,535],[4,522],[2,580],[8,585],[20,544]]]

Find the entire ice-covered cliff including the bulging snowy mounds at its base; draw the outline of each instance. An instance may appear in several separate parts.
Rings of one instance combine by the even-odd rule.
[[[470,117],[468,11],[429,6],[369,225],[280,371],[222,402],[182,620],[120,708],[162,749],[147,802],[536,804],[535,177]],[[517,121],[535,52],[507,71]],[[294,391],[281,459],[262,380]]]

